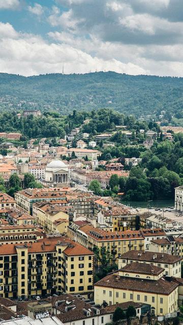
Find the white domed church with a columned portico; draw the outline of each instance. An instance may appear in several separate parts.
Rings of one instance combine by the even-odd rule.
[[[45,168],[45,182],[54,187],[67,186],[69,184],[68,166],[62,160],[52,160]]]

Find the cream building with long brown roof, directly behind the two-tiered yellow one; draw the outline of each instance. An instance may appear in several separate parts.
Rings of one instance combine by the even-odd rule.
[[[181,278],[181,261],[179,256],[167,253],[155,253],[142,250],[131,250],[121,255],[118,259],[118,268],[121,269],[127,264],[138,262],[147,263],[164,269],[164,275]]]

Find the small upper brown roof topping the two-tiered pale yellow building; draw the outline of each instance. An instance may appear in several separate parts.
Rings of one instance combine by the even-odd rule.
[[[164,271],[164,269],[146,263],[134,262],[127,264],[126,266],[121,268],[120,271],[139,274],[159,275]]]

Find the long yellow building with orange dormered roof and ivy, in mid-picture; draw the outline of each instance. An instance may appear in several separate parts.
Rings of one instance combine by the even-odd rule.
[[[140,231],[106,232],[89,224],[76,229],[75,224],[71,224],[67,236],[90,250],[97,247],[100,257],[103,251],[107,252],[108,257],[111,256],[111,265],[118,263],[118,258],[126,251],[144,249],[144,238]],[[96,257],[95,266],[101,266]]]

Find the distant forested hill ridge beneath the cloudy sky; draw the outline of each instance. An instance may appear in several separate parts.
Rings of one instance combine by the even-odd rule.
[[[114,72],[83,75],[49,74],[23,77],[0,74],[0,98],[17,108],[20,100],[36,102],[41,110],[57,109],[63,114],[76,110],[113,108],[120,112],[159,115],[161,110],[183,117],[183,78],[130,76]],[[4,101],[5,103],[6,101]],[[28,104],[23,104],[23,108]],[[6,103],[0,109],[6,109]]]

